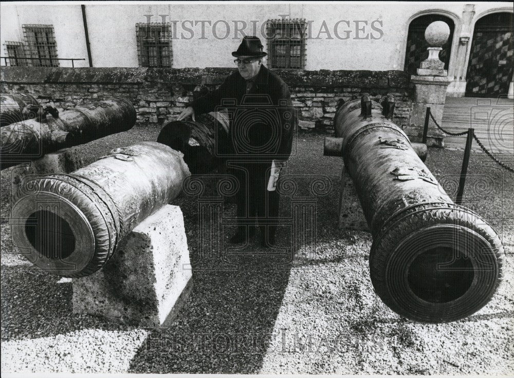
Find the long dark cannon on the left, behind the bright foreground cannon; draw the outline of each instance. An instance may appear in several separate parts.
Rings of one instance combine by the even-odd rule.
[[[54,116],[38,117],[2,127],[1,168],[38,159],[61,148],[126,131],[136,123],[136,110],[125,99],[77,106],[61,114],[54,113]]]

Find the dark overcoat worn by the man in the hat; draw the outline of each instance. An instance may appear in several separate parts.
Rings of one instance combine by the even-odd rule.
[[[193,101],[190,106],[195,114],[222,107],[230,112],[235,110],[230,122],[231,157],[287,160],[296,125],[289,88],[265,66],[261,66],[252,81],[251,89],[247,90],[247,81],[236,70],[216,90]]]

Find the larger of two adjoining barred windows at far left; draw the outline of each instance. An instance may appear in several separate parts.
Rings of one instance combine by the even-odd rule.
[[[59,67],[53,25],[22,25],[25,56],[34,67]]]

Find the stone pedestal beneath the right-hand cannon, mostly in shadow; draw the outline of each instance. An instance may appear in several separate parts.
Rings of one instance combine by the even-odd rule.
[[[352,178],[343,166],[341,173],[341,190],[339,195],[338,228],[348,230],[369,231],[368,223],[362,213],[357,191]]]

